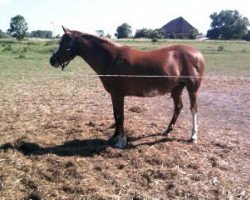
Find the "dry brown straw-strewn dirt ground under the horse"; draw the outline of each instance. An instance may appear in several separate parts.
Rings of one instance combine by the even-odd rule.
[[[170,95],[126,98],[129,145],[109,146],[113,114],[100,83],[74,77],[0,92],[1,199],[249,199],[250,80],[209,77],[199,93],[199,141],[191,113],[161,134]]]

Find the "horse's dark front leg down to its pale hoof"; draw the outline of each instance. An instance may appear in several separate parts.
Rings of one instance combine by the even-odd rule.
[[[117,148],[124,148],[127,145],[127,136],[124,132],[124,96],[111,94],[114,118],[115,134],[110,138],[110,142]]]

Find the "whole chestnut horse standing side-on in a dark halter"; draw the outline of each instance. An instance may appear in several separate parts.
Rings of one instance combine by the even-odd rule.
[[[197,91],[205,68],[200,52],[184,45],[139,51],[94,35],[64,27],[63,30],[65,34],[50,63],[64,69],[72,59],[81,56],[100,75],[99,78],[112,99],[115,133],[110,141],[115,147],[123,148],[127,144],[123,126],[125,96],[153,97],[171,93],[174,114],[164,131],[167,135],[173,130],[183,107],[184,87],[187,88],[191,104],[191,141],[197,141]]]

